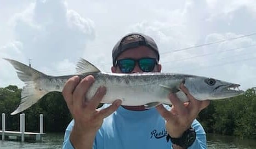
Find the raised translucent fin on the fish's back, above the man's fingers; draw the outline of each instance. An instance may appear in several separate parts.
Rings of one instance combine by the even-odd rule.
[[[76,72],[78,74],[83,74],[88,72],[100,72],[100,70],[89,61],[80,58],[76,65]]]

